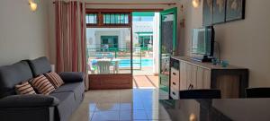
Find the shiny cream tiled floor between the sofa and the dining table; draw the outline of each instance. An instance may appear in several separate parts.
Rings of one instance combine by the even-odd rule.
[[[160,98],[157,89],[88,91],[70,121],[170,120]]]

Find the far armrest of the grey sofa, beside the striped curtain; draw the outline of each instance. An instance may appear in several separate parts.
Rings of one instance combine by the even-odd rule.
[[[79,72],[64,72],[59,73],[59,76],[64,82],[84,82],[84,73]]]

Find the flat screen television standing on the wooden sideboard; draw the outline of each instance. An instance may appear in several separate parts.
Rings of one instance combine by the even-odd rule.
[[[199,56],[213,56],[215,31],[212,26],[193,29],[192,54]]]

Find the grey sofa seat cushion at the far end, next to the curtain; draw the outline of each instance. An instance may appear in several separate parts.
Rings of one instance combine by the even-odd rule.
[[[80,102],[83,99],[83,93],[85,92],[84,82],[66,83],[60,86],[54,93],[59,92],[74,92],[76,101]]]

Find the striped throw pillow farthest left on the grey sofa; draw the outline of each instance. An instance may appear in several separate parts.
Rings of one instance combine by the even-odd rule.
[[[17,94],[37,94],[36,91],[33,90],[31,84],[29,82],[22,82],[21,84],[15,85],[15,90]]]

